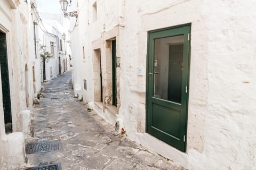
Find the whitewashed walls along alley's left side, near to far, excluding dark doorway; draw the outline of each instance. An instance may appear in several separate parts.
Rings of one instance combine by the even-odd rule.
[[[31,2],[31,3],[30,3]],[[33,6],[33,3],[35,6]],[[31,8],[32,7],[32,8]],[[55,43],[54,56],[46,64],[52,66],[52,77],[59,74],[58,56],[61,56],[63,73],[63,60],[65,60],[65,42],[62,39],[62,52],[55,36],[46,37],[42,30],[39,31],[36,3],[32,1],[13,1],[0,0],[0,30],[6,33],[7,57],[9,65],[10,95],[13,133],[5,133],[3,106],[0,105],[0,169],[9,170],[25,166],[25,137],[24,133],[30,133],[30,113],[29,109],[33,105],[34,96],[36,97],[41,90],[41,57],[39,55],[39,45],[47,44],[50,51],[50,41]],[[34,22],[36,26],[36,47],[34,42]],[[59,24],[61,25],[61,24]],[[59,26],[58,25],[58,26]],[[41,25],[42,26],[42,25]],[[46,26],[47,27],[47,26]],[[50,27],[52,29],[52,27]],[[66,31],[62,29],[61,31]],[[62,33],[58,30],[51,30],[57,37],[62,38]],[[37,57],[36,57],[37,54]],[[33,73],[34,66],[34,73]],[[34,74],[34,78],[33,78]],[[50,71],[47,78],[50,79]],[[2,83],[0,79],[0,103],[3,103]]]

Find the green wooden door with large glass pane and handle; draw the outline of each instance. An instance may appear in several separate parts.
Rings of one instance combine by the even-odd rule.
[[[154,137],[185,152],[190,25],[150,31],[147,55],[147,125]]]

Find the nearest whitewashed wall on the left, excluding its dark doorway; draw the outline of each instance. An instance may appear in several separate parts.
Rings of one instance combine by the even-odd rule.
[[[0,16],[0,30],[6,33],[7,41],[13,125],[13,133],[6,134],[0,83],[0,169],[7,170],[25,165],[24,135],[21,132],[29,133],[31,113],[28,109],[34,99],[33,66],[36,61],[34,45],[30,43],[34,38],[30,1],[27,4],[1,0]]]

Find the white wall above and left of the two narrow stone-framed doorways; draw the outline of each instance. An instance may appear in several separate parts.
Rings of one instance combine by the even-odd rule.
[[[93,50],[92,43],[102,38],[102,32],[107,32],[118,24],[119,8],[114,8],[116,0],[97,1],[97,20],[94,20],[93,4],[96,1],[79,1],[78,20],[70,24],[72,54],[74,57],[74,91],[86,102],[94,101]],[[77,10],[77,2],[72,1],[70,11]],[[111,20],[109,20],[111,18]],[[74,23],[74,19],[70,19]],[[103,41],[101,42],[103,43]],[[100,43],[100,45],[101,45]],[[83,47],[85,58],[83,58]],[[99,46],[100,47],[100,46]],[[84,89],[84,79],[87,80],[87,90]]]

